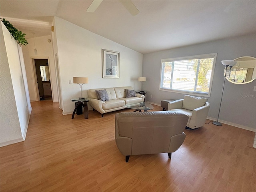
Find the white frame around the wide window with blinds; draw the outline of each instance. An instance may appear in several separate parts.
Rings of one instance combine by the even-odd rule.
[[[212,63],[212,72],[211,72],[211,78],[210,78],[210,85],[209,85],[209,92],[208,93],[197,92],[197,91],[188,91],[188,90],[176,90],[176,89],[172,89],[172,88],[161,88],[161,84],[162,84],[161,80],[164,79],[164,76],[162,77],[162,75],[164,75],[164,74],[162,74],[162,68],[163,68],[162,63],[163,62],[174,62],[174,61],[180,61],[180,60],[193,60],[193,59],[203,59],[203,58],[214,58],[213,63]],[[161,59],[159,90],[160,91],[166,91],[166,92],[181,93],[181,94],[193,94],[195,96],[210,97],[211,91],[212,91],[212,82],[213,82],[216,58],[217,58],[217,53]],[[173,74],[173,70],[172,70],[172,74]],[[196,73],[196,76],[198,76],[198,73]]]

